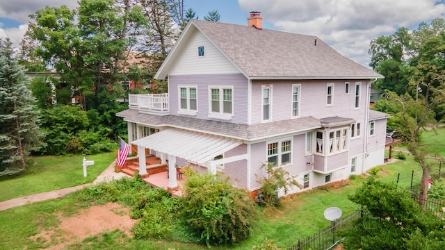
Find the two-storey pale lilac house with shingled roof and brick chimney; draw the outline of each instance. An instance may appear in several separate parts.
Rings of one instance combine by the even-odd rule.
[[[369,109],[371,81],[383,76],[316,36],[262,29],[261,19],[191,20],[155,76],[168,78],[168,94],[130,95],[117,115],[138,147],[140,175],[146,151],[172,170],[218,171],[250,191],[266,162],[302,190],[383,163],[389,116]]]

